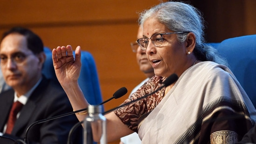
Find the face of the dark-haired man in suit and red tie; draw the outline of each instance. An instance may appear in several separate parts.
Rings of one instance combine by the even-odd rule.
[[[11,87],[31,87],[41,76],[42,63],[28,49],[21,34],[9,34],[0,44],[0,66],[5,81]]]

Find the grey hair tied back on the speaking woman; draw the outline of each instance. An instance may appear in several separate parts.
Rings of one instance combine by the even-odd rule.
[[[195,35],[194,55],[200,61],[212,61],[228,66],[227,61],[218,55],[217,50],[205,43],[204,39],[204,20],[201,13],[195,7],[183,2],[164,2],[145,10],[140,14],[139,25],[149,18],[156,18],[168,29],[174,32],[192,32]],[[180,42],[187,38],[187,34],[177,34]]]

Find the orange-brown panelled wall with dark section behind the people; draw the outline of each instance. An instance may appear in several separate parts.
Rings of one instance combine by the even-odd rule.
[[[167,1],[167,0],[162,0]],[[207,42],[256,34],[256,0],[182,0],[203,14]],[[14,26],[38,34],[50,49],[71,45],[96,62],[103,100],[121,87],[128,93],[104,104],[121,104],[145,75],[130,42],[136,41],[138,13],[159,0],[0,0],[0,34]],[[118,144],[119,141],[109,143]]]

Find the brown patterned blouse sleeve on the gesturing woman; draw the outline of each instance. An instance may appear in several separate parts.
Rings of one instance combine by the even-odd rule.
[[[145,82],[135,93],[133,93],[130,98],[126,99],[124,103],[128,103],[134,99],[137,99],[138,97],[152,93],[162,86],[162,82],[165,79],[165,77],[157,75],[153,76],[150,80]],[[128,128],[138,132],[138,118],[153,110],[162,100],[164,93],[165,88],[160,89],[156,93],[131,103],[130,105],[121,107],[114,112],[120,118],[120,120],[128,126]]]

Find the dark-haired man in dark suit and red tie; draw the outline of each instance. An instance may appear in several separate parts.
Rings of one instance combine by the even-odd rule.
[[[3,137],[23,140],[28,126],[35,121],[73,111],[60,84],[42,75],[45,59],[42,40],[31,30],[14,27],[3,34],[0,67],[6,83],[12,88],[0,94],[0,132]],[[14,102],[21,103],[21,110],[11,121]],[[28,131],[28,142],[66,144],[69,130],[76,123],[76,116],[70,115],[37,124]],[[81,130],[73,136],[77,140],[73,143],[83,141]]]

